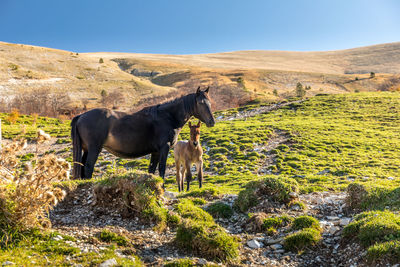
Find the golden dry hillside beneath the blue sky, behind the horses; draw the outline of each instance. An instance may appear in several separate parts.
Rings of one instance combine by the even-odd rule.
[[[399,50],[400,43],[392,43],[328,52],[78,54],[0,42],[0,97],[4,106],[14,96],[49,89],[67,93],[69,108],[91,108],[105,105],[104,90],[119,92],[122,98],[114,105],[129,110],[210,85],[214,107],[225,109],[290,97],[298,82],[311,87],[308,96],[396,90]]]

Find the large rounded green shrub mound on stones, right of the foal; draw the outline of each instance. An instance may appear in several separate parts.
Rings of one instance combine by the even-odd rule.
[[[284,177],[267,177],[259,181],[249,182],[245,190],[240,191],[234,207],[242,212],[256,206],[260,199],[288,203],[292,199],[290,193],[297,193],[299,186],[296,180]]]

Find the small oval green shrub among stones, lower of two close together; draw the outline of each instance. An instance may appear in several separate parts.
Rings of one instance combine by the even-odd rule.
[[[313,228],[304,228],[299,232],[286,236],[283,246],[287,250],[299,252],[315,246],[320,240],[320,231]]]

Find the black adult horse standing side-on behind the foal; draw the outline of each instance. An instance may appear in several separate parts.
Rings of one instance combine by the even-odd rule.
[[[97,158],[104,147],[123,158],[151,154],[149,172],[157,165],[164,179],[169,149],[174,146],[185,123],[194,116],[207,127],[215,124],[207,88],[171,102],[150,106],[133,114],[109,109],[92,109],[71,122],[73,144],[73,176],[92,177]],[[83,150],[83,155],[82,155]]]

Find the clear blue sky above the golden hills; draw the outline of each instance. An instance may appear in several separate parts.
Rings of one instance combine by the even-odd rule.
[[[76,52],[336,50],[400,41],[400,1],[0,0],[0,25]]]

